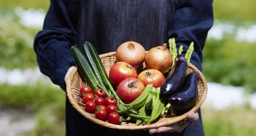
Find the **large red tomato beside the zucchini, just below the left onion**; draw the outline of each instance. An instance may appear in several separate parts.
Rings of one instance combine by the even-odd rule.
[[[128,77],[137,78],[137,71],[126,62],[116,62],[109,71],[109,78],[114,86]]]

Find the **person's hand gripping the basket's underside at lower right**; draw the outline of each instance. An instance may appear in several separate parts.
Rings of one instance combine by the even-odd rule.
[[[196,122],[198,121],[199,116],[198,113],[193,113],[189,112],[187,116],[187,121],[183,124],[172,124],[169,126],[164,126],[164,127],[158,127],[158,128],[153,128],[149,129],[148,133],[153,134],[153,133],[163,133],[163,132],[178,132],[180,133],[184,128],[189,125],[190,122]]]

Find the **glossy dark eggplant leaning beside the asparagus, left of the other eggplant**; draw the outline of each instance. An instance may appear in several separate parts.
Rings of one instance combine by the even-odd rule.
[[[172,70],[169,72],[165,81],[160,88],[160,99],[168,99],[170,96],[177,93],[183,84],[186,71],[188,69],[188,64],[186,59],[180,54],[177,55],[175,65]]]

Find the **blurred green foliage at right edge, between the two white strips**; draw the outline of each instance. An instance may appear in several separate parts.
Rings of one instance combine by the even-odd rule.
[[[256,43],[208,39],[203,50],[205,78],[256,91],[256,56],[251,52],[256,52]]]

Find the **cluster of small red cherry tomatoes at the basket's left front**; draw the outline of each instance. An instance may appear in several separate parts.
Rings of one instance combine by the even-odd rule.
[[[102,121],[112,124],[119,123],[119,114],[116,112],[117,101],[114,97],[105,98],[105,91],[101,88],[96,89],[92,94],[92,89],[88,85],[80,88],[80,96],[82,103],[85,104],[84,109],[89,113],[95,113],[95,117]]]

